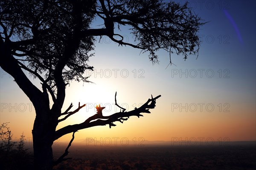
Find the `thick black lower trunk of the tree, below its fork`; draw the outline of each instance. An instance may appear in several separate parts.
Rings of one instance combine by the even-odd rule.
[[[32,130],[35,170],[52,170],[52,144],[57,126],[55,122],[50,111],[39,111],[36,114]]]

